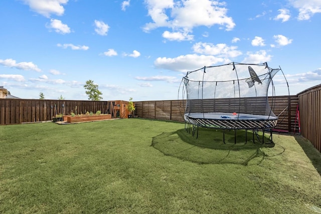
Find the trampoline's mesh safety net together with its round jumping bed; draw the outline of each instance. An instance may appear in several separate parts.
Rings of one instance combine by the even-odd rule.
[[[187,124],[218,129],[272,129],[278,117],[268,102],[280,70],[263,64],[229,63],[187,72],[183,78]],[[233,99],[231,99],[233,98]]]

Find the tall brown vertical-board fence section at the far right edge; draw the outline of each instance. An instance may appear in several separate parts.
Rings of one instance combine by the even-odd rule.
[[[298,94],[301,135],[321,152],[321,84]]]

